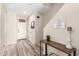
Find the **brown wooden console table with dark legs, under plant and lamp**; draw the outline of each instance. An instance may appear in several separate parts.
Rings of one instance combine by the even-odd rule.
[[[46,40],[41,40],[40,41],[40,56],[42,55],[42,43],[45,44],[45,56],[48,55],[48,52],[47,52],[47,45],[51,46],[51,47],[54,47],[66,54],[68,54],[69,56],[71,56],[71,53],[73,53],[73,56],[76,56],[76,49],[75,48],[72,48],[72,49],[68,49],[66,48],[65,45],[63,44],[60,44],[60,43],[57,43],[57,42],[54,42],[54,41],[46,41]]]

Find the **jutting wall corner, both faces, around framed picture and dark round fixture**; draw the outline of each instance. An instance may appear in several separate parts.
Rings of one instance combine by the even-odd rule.
[[[37,19],[37,16],[40,16],[39,19]],[[35,28],[31,29],[31,22],[35,21]],[[39,13],[33,13],[29,19],[28,19],[28,39],[34,44],[39,44],[39,41],[43,38],[43,24],[42,24],[42,15]]]

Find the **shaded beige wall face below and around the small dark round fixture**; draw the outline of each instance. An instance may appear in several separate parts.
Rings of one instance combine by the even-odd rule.
[[[39,16],[40,18],[36,18],[36,25],[35,25],[35,31],[36,31],[36,44],[39,44],[40,40],[43,39],[43,15],[38,13],[36,16]]]

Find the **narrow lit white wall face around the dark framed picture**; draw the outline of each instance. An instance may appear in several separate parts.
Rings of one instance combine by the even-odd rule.
[[[35,15],[32,14],[28,18],[28,39],[35,45],[35,28],[31,29],[31,22],[35,21]]]

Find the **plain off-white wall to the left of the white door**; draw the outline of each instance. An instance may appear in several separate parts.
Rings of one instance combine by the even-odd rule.
[[[1,36],[2,44],[16,43],[16,14],[6,8],[5,4],[2,4],[1,10]]]

